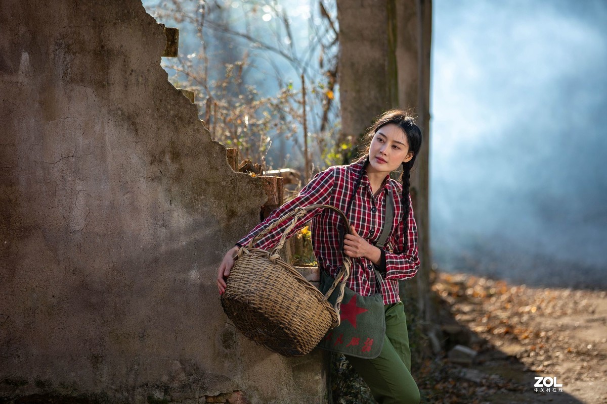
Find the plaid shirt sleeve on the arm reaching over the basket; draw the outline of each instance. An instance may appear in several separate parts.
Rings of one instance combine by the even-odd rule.
[[[236,245],[247,246],[248,243],[254,239],[254,237],[268,228],[276,219],[284,214],[290,212],[297,207],[307,207],[314,204],[329,204],[331,194],[333,194],[334,184],[334,170],[329,168],[328,170],[321,171],[316,174],[313,179],[308,182],[296,197],[283,204],[281,207],[274,210],[270,216],[268,216],[263,222],[257,225],[253,230],[249,232],[245,237],[239,240]],[[314,209],[308,211],[304,217],[300,218],[297,225],[287,234],[287,238],[297,233],[304,225],[309,222],[312,217],[320,213],[322,209]],[[257,240],[253,247],[262,248],[263,250],[271,250],[274,248],[279,240],[280,236],[284,233],[285,228],[291,220],[283,220],[276,227],[274,227],[268,234]]]

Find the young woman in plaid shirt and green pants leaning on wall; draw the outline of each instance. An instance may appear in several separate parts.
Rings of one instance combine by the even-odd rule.
[[[352,257],[348,288],[369,296],[374,288],[374,268],[381,273],[386,331],[381,354],[375,359],[348,356],[348,361],[362,376],[378,403],[419,403],[419,389],[411,376],[411,354],[407,322],[398,293],[398,280],[415,276],[419,267],[417,227],[409,195],[410,170],[419,153],[422,134],[415,120],[405,111],[392,110],[379,116],[369,129],[369,144],[364,157],[350,165],[330,167],[314,178],[292,200],[282,205],[226,253],[217,274],[217,287],[222,294],[226,277],[234,265],[240,246],[277,217],[293,208],[312,204],[333,205],[343,211],[352,227],[340,251],[339,217],[325,209],[309,211],[291,230],[293,236],[312,221],[311,236],[319,267],[335,277],[342,265],[342,254]],[[402,167],[402,184],[390,173]],[[385,224],[385,213],[391,205],[393,222]],[[284,225],[287,223],[285,222]],[[391,231],[383,249],[375,246],[385,225]],[[271,250],[284,226],[279,225],[256,243]]]

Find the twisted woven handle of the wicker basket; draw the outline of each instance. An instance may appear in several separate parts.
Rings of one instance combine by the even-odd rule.
[[[299,219],[304,217],[307,211],[313,210],[313,209],[318,209],[318,208],[327,208],[327,209],[333,210],[334,212],[339,214],[339,217],[341,217],[342,221],[344,222],[346,233],[353,234],[352,229],[350,227],[350,222],[348,222],[348,218],[345,216],[345,214],[341,210],[339,210],[336,207],[331,206],[331,205],[319,205],[319,204],[308,205],[307,207],[304,207],[304,208],[295,208],[294,210],[290,211],[289,213],[287,213],[281,217],[278,217],[276,220],[274,220],[274,222],[272,222],[272,224],[270,226],[265,228],[263,231],[261,231],[259,234],[257,234],[257,236],[255,236],[253,239],[251,239],[251,241],[249,241],[248,248],[249,249],[253,248],[254,243],[256,243],[257,241],[262,239],[263,236],[265,236],[266,234],[270,233],[270,231],[273,228],[277,227],[280,223],[284,222],[285,220],[293,219],[291,221],[291,223],[287,226],[287,228],[285,228],[285,231],[283,231],[282,236],[280,237],[280,241],[276,245],[276,248],[274,248],[274,250],[270,253],[270,256],[276,256],[277,252],[280,250],[280,248],[282,248],[285,241],[287,240],[287,235],[297,225],[297,222],[299,221]],[[344,299],[345,283],[346,283],[347,279],[350,277],[351,267],[352,267],[351,258],[344,254],[343,268],[341,271],[339,271],[339,274],[337,274],[337,276],[335,277],[333,285],[331,285],[331,287],[329,288],[327,293],[325,293],[325,299],[328,299],[328,297],[331,296],[331,294],[337,288],[337,286],[339,286],[339,291],[338,291],[339,294],[337,295],[336,302],[333,305],[333,308],[337,313],[337,325],[339,325],[339,323],[340,323],[339,312],[341,310],[341,302]]]

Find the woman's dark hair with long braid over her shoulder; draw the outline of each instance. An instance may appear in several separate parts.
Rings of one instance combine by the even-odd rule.
[[[390,110],[385,111],[381,114],[375,123],[368,128],[367,134],[365,135],[365,143],[367,144],[364,149],[364,158],[368,158],[369,150],[371,147],[371,139],[375,136],[375,133],[379,130],[379,128],[388,125],[395,124],[403,133],[407,136],[407,142],[409,143],[409,151],[413,153],[412,159],[408,162],[402,163],[402,207],[403,216],[402,220],[404,222],[405,227],[407,226],[407,218],[409,217],[409,212],[411,211],[411,207],[409,206],[409,187],[410,187],[410,179],[411,179],[411,168],[413,168],[413,164],[415,163],[415,159],[419,154],[419,149],[421,149],[422,143],[422,133],[421,129],[415,122],[415,118],[413,115],[409,113],[409,111],[403,110]]]

